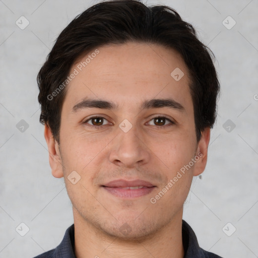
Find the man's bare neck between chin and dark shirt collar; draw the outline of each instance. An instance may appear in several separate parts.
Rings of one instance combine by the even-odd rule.
[[[182,210],[172,221],[145,239],[124,240],[110,236],[83,219],[73,208],[77,258],[183,258]]]

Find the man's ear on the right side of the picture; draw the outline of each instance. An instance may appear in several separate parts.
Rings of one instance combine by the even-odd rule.
[[[193,176],[197,176],[203,173],[206,167],[208,146],[210,142],[210,134],[211,134],[210,127],[206,127],[205,130],[202,132],[202,136],[198,143],[197,152],[196,152],[196,157],[199,157],[199,159],[197,160],[197,158],[195,158],[197,162],[193,168]]]

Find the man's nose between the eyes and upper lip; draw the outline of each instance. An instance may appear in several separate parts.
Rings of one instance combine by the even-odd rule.
[[[110,162],[133,168],[148,163],[150,156],[145,138],[137,132],[136,126],[126,133],[118,128],[118,136],[114,138],[110,150]]]

